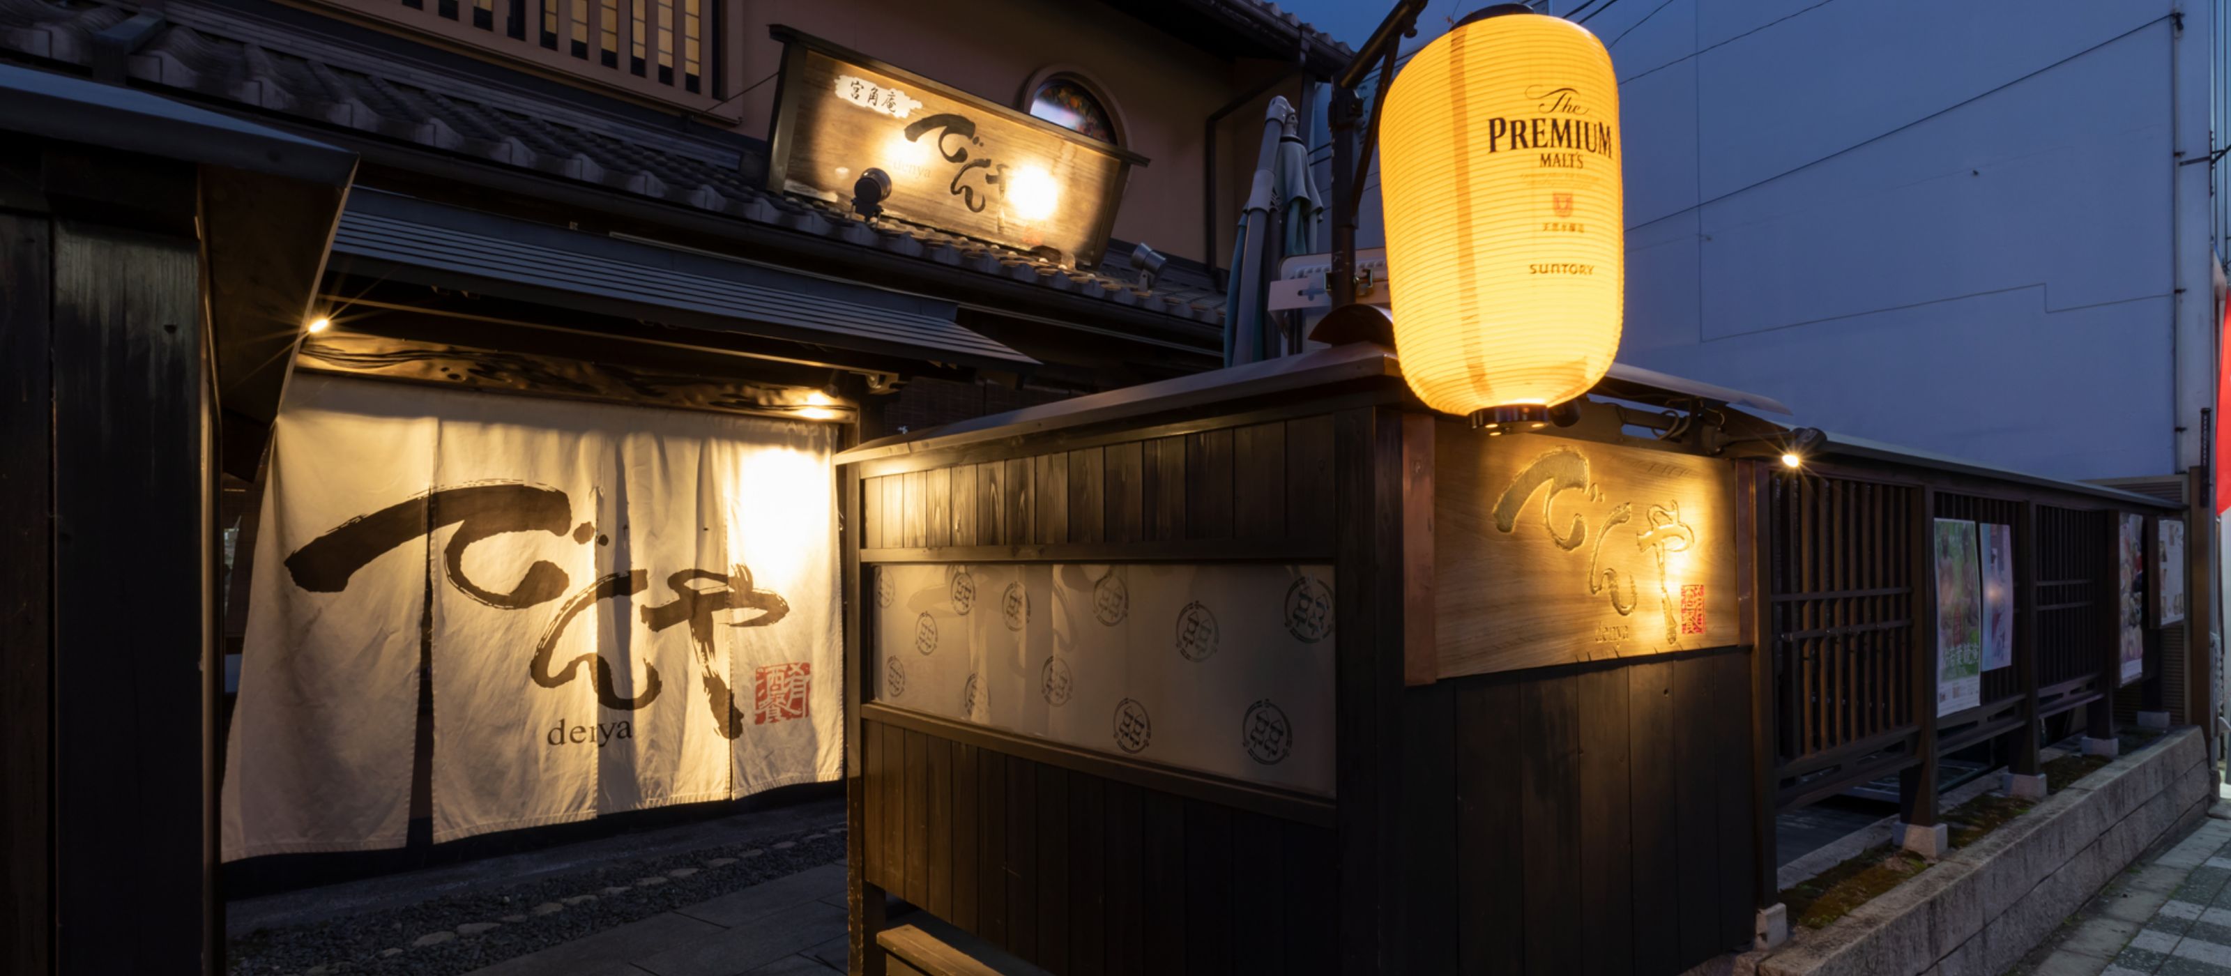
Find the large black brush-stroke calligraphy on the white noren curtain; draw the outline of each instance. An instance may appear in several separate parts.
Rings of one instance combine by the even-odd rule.
[[[310,593],[341,593],[350,577],[379,555],[457,526],[442,548],[442,573],[448,586],[466,597],[500,608],[527,611],[567,597],[571,577],[551,562],[535,559],[509,591],[493,591],[475,582],[464,570],[464,550],[475,541],[506,533],[549,533],[571,537],[573,544],[607,544],[593,521],[573,524],[571,499],[549,486],[524,481],[475,481],[453,488],[435,488],[382,508],[370,515],[348,519],[326,535],[310,539],[286,557],[294,586]],[[752,584],[750,566],[732,566],[727,573],[707,568],[680,568],[660,577],[672,595],[665,604],[640,606],[636,613],[651,633],[685,626],[696,648],[698,684],[714,724],[723,738],[743,735],[745,724],[767,724],[785,718],[803,718],[808,700],[810,668],[774,666],[759,668],[754,689],[754,715],[747,722],[736,706],[727,680],[714,668],[714,626],[772,626],[790,615],[790,602],[779,593]],[[643,666],[645,680],[634,695],[620,695],[614,682],[611,662],[596,651],[576,655],[562,664],[553,662],[567,626],[589,606],[602,599],[636,597],[651,588],[651,573],[640,568],[614,570],[591,579],[558,606],[535,653],[527,664],[535,686],[560,689],[587,666],[596,684],[596,700],[607,709],[636,711],[665,691],[658,668]],[[718,617],[718,619],[716,619]]]

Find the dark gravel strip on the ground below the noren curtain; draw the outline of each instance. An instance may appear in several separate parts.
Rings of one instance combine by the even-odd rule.
[[[228,945],[228,972],[451,976],[837,860],[843,827],[605,865],[357,918],[257,929]]]

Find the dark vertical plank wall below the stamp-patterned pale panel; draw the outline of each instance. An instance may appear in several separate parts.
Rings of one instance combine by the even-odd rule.
[[[861,753],[866,880],[1044,969],[1336,969],[1325,827],[875,720]]]

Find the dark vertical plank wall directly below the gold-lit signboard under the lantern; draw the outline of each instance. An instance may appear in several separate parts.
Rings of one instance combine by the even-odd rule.
[[[1466,974],[1678,974],[1751,940],[1749,655],[1740,648],[1410,689],[1448,709],[1455,925],[1412,960]],[[1419,891],[1412,885],[1412,891]],[[1432,909],[1430,905],[1412,907]],[[1575,925],[1584,920],[1584,925]]]

